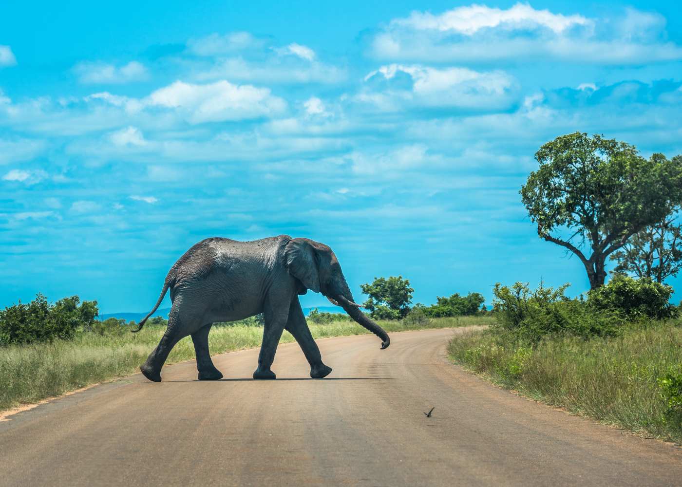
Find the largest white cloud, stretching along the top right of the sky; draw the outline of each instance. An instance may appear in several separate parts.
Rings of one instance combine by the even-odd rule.
[[[372,39],[372,55],[412,61],[494,61],[538,57],[594,63],[682,59],[666,41],[665,19],[628,8],[621,16],[587,18],[536,10],[470,5],[441,14],[396,18]]]

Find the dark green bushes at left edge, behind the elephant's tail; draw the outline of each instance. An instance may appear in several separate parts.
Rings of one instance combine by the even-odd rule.
[[[0,344],[46,342],[73,338],[81,327],[89,327],[98,314],[97,301],[65,297],[50,305],[42,294],[29,304],[19,301],[0,311]]]

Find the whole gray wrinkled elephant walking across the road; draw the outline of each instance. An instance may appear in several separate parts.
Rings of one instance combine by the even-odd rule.
[[[164,289],[139,331],[170,289],[173,306],[168,329],[158,346],[140,367],[150,381],[161,381],[161,368],[173,346],[192,336],[200,381],[221,379],[209,355],[209,329],[218,321],[235,321],[263,313],[265,328],[254,379],[276,379],[270,370],[277,345],[286,329],[301,346],[310,364],[310,377],[322,379],[331,368],[322,362],[310,334],[298,295],[322,293],[338,303],[360,325],[389,346],[386,332],[371,321],[357,304],[346,284],[331,248],[310,239],[288,235],[241,242],[214,237],[190,248],[170,268]]]

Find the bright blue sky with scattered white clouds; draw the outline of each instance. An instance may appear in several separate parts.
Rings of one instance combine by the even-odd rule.
[[[0,6],[0,305],[144,311],[196,241],[281,233],[357,299],[399,274],[426,304],[576,294],[520,203],[533,153],[576,130],[682,153],[677,1],[198,5]]]

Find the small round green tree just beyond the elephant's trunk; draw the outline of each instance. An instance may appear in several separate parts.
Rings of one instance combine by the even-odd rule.
[[[372,284],[360,284],[362,293],[369,299],[362,305],[370,310],[372,318],[398,320],[410,312],[412,293],[410,281],[402,276],[391,276],[388,279],[374,278]]]

